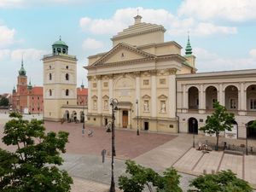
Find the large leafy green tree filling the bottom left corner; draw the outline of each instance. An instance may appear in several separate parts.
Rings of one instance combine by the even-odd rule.
[[[15,152],[0,149],[0,189],[3,192],[70,191],[73,183],[66,171],[60,171],[68,133],[44,133],[42,121],[22,119],[10,113],[13,119],[4,127],[3,143],[16,146]]]

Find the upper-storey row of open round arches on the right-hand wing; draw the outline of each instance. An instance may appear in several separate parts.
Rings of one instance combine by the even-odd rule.
[[[256,114],[256,84],[183,85],[183,113],[212,113],[213,102],[239,115]]]

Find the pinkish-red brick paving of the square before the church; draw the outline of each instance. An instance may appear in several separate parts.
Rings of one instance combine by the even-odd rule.
[[[87,134],[82,137],[82,124],[75,123],[55,123],[45,122],[44,126],[47,131],[68,131],[69,143],[67,143],[68,154],[96,154],[101,155],[102,149],[107,150],[107,155],[111,151],[111,133],[106,132],[105,128],[85,127],[85,133],[89,129],[93,130],[94,136],[88,137]],[[3,128],[3,125],[0,125]],[[3,129],[1,129],[0,137],[3,137]],[[176,136],[168,134],[156,134],[148,132],[140,132],[137,136],[136,131],[115,130],[115,147],[117,158],[133,159],[140,154],[156,148]],[[7,148],[0,143],[1,148]]]

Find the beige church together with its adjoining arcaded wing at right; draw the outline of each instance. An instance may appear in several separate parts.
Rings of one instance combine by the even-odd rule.
[[[196,73],[189,39],[181,55],[182,46],[165,42],[165,32],[137,15],[133,25],[111,38],[112,49],[88,57],[87,124],[106,125],[109,101],[116,98],[120,129],[137,130],[138,123],[141,131],[198,133],[218,101],[235,113],[234,128],[225,136],[246,137],[245,125],[256,115],[256,70]]]

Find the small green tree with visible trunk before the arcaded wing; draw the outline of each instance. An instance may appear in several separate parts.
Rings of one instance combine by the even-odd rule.
[[[208,134],[216,134],[216,150],[218,150],[218,135],[220,131],[231,131],[234,119],[234,113],[228,113],[227,109],[220,105],[218,102],[213,103],[214,113],[211,116],[207,116],[206,125],[200,128]]]

